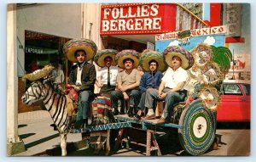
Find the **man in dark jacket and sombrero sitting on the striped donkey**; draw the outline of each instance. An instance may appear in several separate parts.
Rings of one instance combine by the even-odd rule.
[[[93,64],[88,63],[96,54],[96,44],[88,39],[73,39],[68,41],[63,52],[67,59],[77,63],[71,67],[68,84],[79,92],[79,112],[75,123],[76,129],[88,126],[88,115],[90,101],[94,96],[94,84],[96,81],[96,69]]]

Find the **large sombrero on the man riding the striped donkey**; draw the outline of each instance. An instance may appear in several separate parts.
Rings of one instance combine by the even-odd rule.
[[[86,61],[89,61],[94,57],[97,51],[96,43],[90,41],[89,39],[79,38],[72,39],[66,42],[63,46],[63,53],[66,53],[66,57],[69,61],[77,63],[77,59],[74,53],[77,50],[84,50],[86,53]]]

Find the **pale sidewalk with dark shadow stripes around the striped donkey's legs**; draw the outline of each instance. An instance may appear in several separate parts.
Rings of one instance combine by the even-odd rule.
[[[25,144],[26,151],[13,156],[37,156],[53,154],[61,155],[61,147],[58,131],[50,126],[53,123],[49,112],[38,110],[18,115],[18,133]],[[80,133],[67,134],[67,149],[79,149],[86,147]],[[51,153],[55,152],[55,153]]]

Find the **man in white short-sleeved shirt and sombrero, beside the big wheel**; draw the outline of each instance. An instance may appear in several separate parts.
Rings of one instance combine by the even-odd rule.
[[[186,91],[183,90],[185,82],[189,78],[186,70],[194,64],[192,55],[183,47],[167,47],[163,54],[169,68],[162,78],[158,92],[147,93],[145,103],[148,112],[150,112],[149,109],[152,109],[151,105],[153,105],[154,99],[165,100],[164,112],[157,123],[165,123],[166,117],[170,118],[172,115],[174,103],[183,101],[186,97]],[[154,119],[154,114],[148,114],[144,119]]]

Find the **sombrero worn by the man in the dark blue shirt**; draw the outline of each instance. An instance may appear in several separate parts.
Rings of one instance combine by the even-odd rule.
[[[166,70],[166,62],[164,60],[163,54],[157,51],[152,51],[145,49],[143,53],[141,53],[140,57],[140,65],[145,71],[149,71],[149,62],[151,60],[155,60],[158,63],[157,70],[159,71],[165,71]]]

